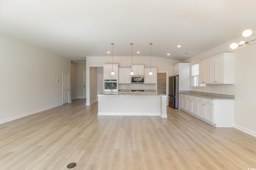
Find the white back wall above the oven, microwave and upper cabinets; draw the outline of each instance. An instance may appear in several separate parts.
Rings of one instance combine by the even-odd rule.
[[[131,57],[114,57],[114,64],[119,64],[119,67],[131,67]],[[170,60],[166,58],[152,57],[152,67],[156,67],[158,72],[168,72],[172,75],[172,65],[180,61]],[[90,67],[102,67],[102,64],[112,64],[112,57],[86,57],[86,105],[90,105]],[[144,64],[145,67],[150,67],[150,56],[133,57],[132,64]]]

